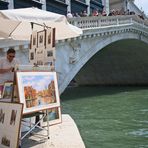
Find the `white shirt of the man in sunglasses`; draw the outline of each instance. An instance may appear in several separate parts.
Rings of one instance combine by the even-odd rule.
[[[8,69],[15,67],[19,62],[14,58],[12,62],[9,62],[6,57],[0,58],[0,69]],[[4,84],[6,81],[14,80],[14,72],[0,73],[0,84]]]

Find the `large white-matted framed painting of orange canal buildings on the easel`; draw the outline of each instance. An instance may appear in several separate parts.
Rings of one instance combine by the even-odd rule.
[[[60,105],[56,72],[17,72],[16,78],[23,114]]]

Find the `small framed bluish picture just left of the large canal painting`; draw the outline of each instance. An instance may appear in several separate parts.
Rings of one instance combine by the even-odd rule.
[[[5,82],[2,92],[3,99],[12,99],[13,95],[13,82]]]

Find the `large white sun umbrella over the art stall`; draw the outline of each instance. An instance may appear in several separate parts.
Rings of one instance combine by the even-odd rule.
[[[82,30],[70,25],[64,15],[40,10],[38,8],[1,10],[0,18],[10,22],[12,21],[12,23],[8,22],[7,25],[2,25],[0,22],[0,33],[2,30],[2,32],[5,32],[3,33],[5,36],[9,36],[14,40],[30,40],[30,35],[33,30],[40,31],[44,29],[44,27],[40,25],[56,28],[56,40],[73,38],[82,34]],[[31,22],[34,24],[33,30]],[[14,27],[13,24],[16,26]]]

